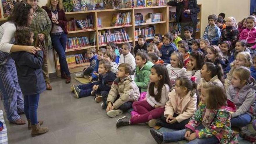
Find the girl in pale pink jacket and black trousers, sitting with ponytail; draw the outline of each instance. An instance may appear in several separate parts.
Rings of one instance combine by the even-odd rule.
[[[174,90],[168,93],[169,100],[158,126],[170,129],[184,129],[196,110],[196,84],[186,76],[178,77]]]

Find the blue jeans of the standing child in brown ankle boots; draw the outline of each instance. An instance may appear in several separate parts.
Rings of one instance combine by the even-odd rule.
[[[39,94],[24,95],[24,113],[27,119],[30,119],[31,125],[38,124],[37,108],[39,102]]]

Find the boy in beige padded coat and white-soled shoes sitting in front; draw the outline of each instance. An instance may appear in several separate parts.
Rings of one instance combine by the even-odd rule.
[[[133,73],[134,70],[127,63],[121,63],[118,66],[117,78],[111,86],[109,95],[103,97],[102,107],[106,108],[109,117],[121,115],[131,108],[132,102],[138,100],[140,92],[131,78]]]

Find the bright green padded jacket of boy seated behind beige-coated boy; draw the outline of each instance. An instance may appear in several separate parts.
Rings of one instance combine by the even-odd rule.
[[[147,63],[140,69],[136,66],[136,75],[135,75],[135,83],[141,89],[141,92],[147,92],[147,86],[149,83],[149,75],[151,73],[151,67],[154,64],[151,61],[147,61]]]

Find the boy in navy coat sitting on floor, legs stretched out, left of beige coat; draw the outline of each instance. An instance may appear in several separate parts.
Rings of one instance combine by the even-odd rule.
[[[99,81],[79,86],[70,86],[70,90],[75,93],[75,97],[81,98],[100,94],[101,96],[95,98],[96,102],[100,102],[104,96],[107,97],[111,85],[116,78],[115,73],[111,72],[111,63],[107,60],[100,61],[98,72]]]

